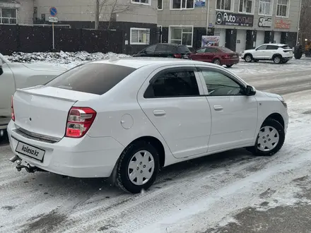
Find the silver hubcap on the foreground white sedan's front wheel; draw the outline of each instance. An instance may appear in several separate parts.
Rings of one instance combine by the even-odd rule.
[[[274,127],[264,126],[258,134],[257,148],[261,151],[273,150],[278,145],[279,139],[278,131]]]

